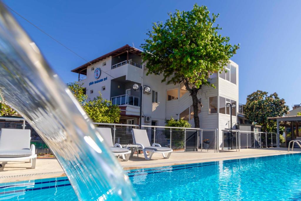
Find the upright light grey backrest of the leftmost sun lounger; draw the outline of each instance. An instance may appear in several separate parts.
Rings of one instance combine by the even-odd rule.
[[[2,128],[0,131],[1,150],[29,149],[30,130]]]

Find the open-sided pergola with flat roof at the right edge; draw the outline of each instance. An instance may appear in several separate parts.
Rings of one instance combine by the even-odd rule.
[[[286,147],[290,140],[301,140],[301,116],[269,117],[268,119],[277,121],[278,140],[279,126],[285,127]]]

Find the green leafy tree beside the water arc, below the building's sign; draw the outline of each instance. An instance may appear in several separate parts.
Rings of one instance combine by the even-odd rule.
[[[112,105],[111,101],[104,99],[101,96],[101,93],[99,93],[99,96],[94,99],[88,100],[88,96],[85,94],[85,89],[78,82],[68,83],[67,86],[94,122],[119,122],[119,107]]]

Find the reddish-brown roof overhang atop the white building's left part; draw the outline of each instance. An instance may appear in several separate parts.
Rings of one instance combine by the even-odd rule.
[[[131,47],[129,45],[125,45],[125,46],[122,46],[121,48],[118,48],[118,49],[112,51],[112,52],[109,52],[109,53],[107,53],[105,55],[102,55],[102,56],[96,58],[96,59],[93,59],[92,61],[89,61],[89,62],[87,62],[87,63],[85,63],[85,64],[83,64],[83,65],[81,65],[81,66],[79,66],[79,67],[77,67],[77,68],[75,68],[73,70],[71,70],[71,72],[80,73],[80,74],[85,74],[86,75],[87,74],[86,69],[87,69],[88,66],[90,66],[92,64],[95,64],[96,62],[101,61],[101,60],[103,60],[105,58],[108,58],[110,56],[112,56],[112,57],[113,56],[117,56],[117,55],[120,55],[120,54],[122,54],[124,52],[127,52],[127,51],[130,52],[130,53],[139,55],[139,56],[141,55],[141,52],[142,52],[142,50],[140,50],[140,49]]]

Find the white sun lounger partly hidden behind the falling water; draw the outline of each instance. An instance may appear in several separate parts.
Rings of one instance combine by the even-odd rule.
[[[111,128],[97,127],[96,130],[100,133],[101,137],[104,139],[104,142],[110,147],[110,150],[114,155],[117,155],[118,157],[119,155],[122,155],[123,161],[129,160],[131,150],[122,148],[122,146],[118,143],[115,143],[115,146],[113,146]]]

